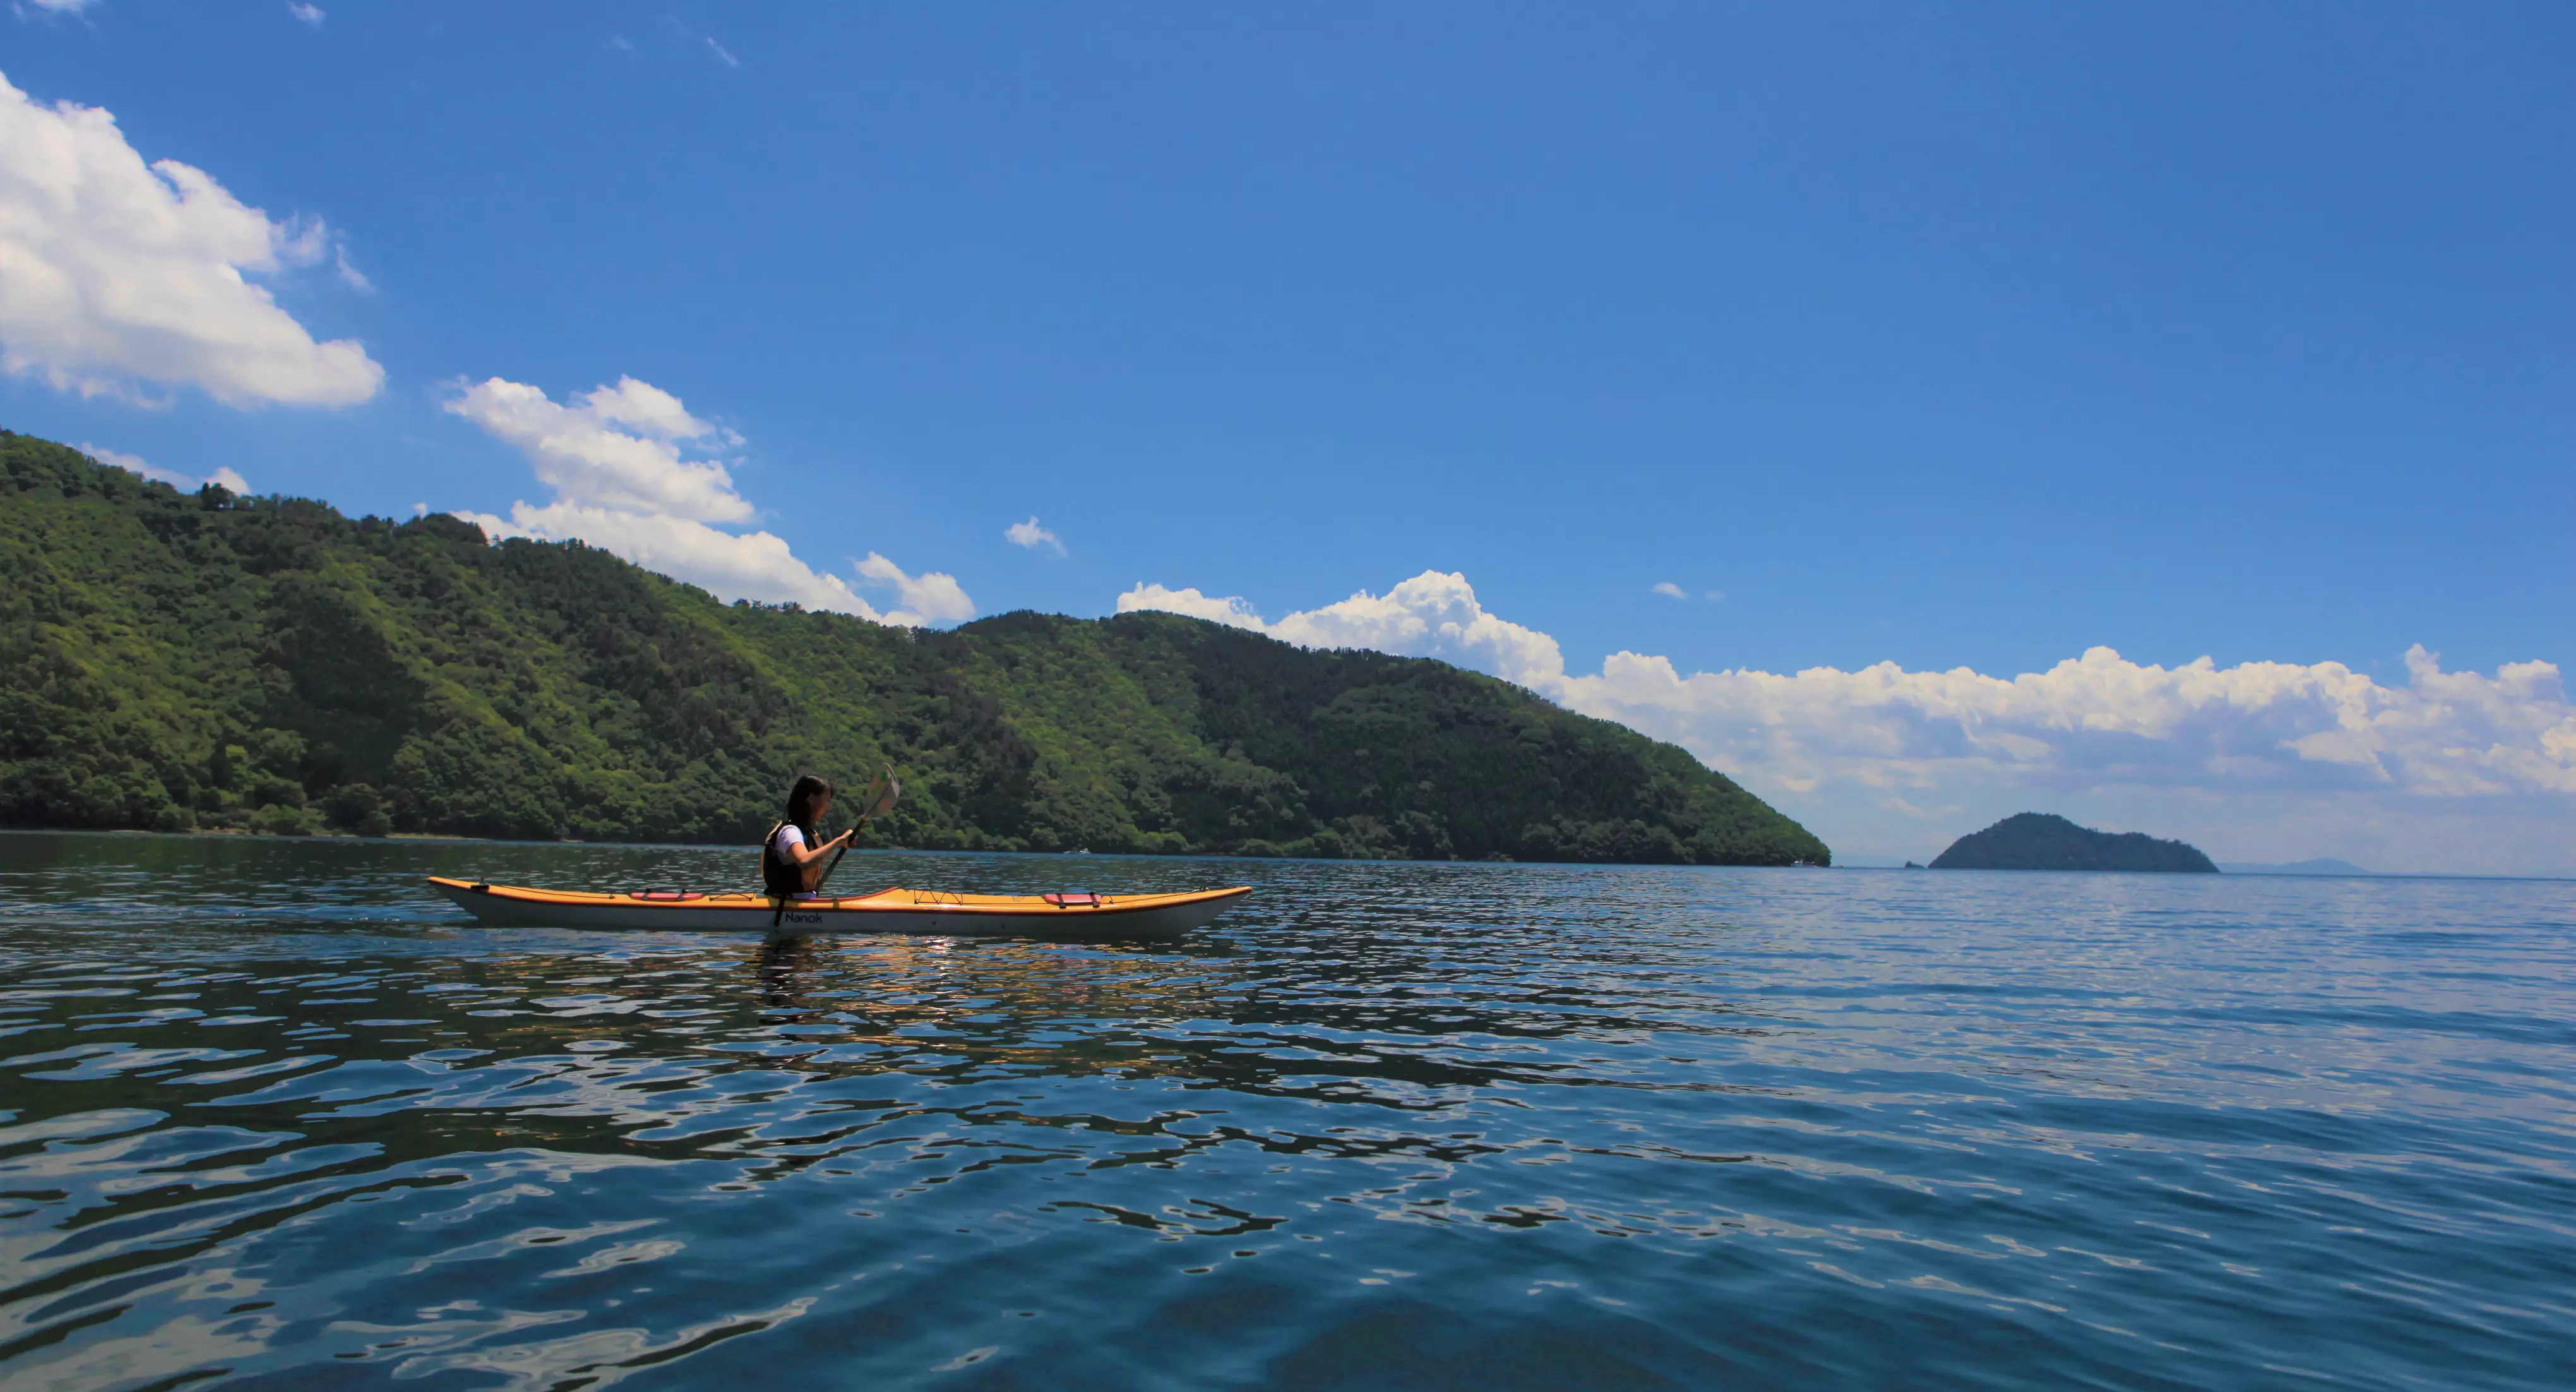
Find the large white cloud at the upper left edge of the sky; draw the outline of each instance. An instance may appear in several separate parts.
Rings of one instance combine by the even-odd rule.
[[[245,278],[330,255],[317,219],[270,222],[214,175],[144,157],[95,106],[39,106],[0,77],[0,369],[147,402],[193,384],[250,405],[353,405],[384,369],[314,338]]]

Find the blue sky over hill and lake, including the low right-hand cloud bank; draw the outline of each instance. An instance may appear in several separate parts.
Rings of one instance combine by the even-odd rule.
[[[1564,683],[1471,621],[1288,637],[1677,737],[1852,858],[2038,804],[2576,869],[2563,686],[2509,673],[2576,660],[2566,5],[291,10],[21,0],[0,75],[260,209],[252,281],[381,382],[70,371],[0,314],[0,423],[500,521],[600,498],[471,384],[634,379],[696,433],[585,428],[721,464],[719,526],[878,614],[1278,626],[1443,572]],[[1914,683],[2094,647],[2236,675]],[[1788,719],[1582,686],[1615,652],[1906,681]]]

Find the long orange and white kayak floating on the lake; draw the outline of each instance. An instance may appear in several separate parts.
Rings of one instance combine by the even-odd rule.
[[[938,933],[958,938],[1172,938],[1206,928],[1252,892],[1188,894],[951,894],[878,889],[829,900],[698,894],[685,889],[526,889],[430,876],[456,907],[489,928],[649,928],[719,933]]]

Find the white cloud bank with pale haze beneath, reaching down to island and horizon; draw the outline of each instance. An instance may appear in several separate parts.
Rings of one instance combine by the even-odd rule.
[[[2110,647],[2014,678],[1896,662],[1685,675],[1669,657],[1615,652],[1574,675],[1556,639],[1486,614],[1463,575],[1422,572],[1383,598],[1363,590],[1278,624],[1242,598],[1164,585],[1139,585],[1118,608],[1445,657],[1672,740],[1837,848],[1857,835],[1929,858],[1984,820],[2058,802],[2164,817],[2161,835],[2213,827],[2262,851],[2221,846],[2221,858],[2576,869],[2576,706],[2550,662],[2445,673],[2414,647],[2406,683],[2385,686],[2342,662],[2161,668]],[[2354,799],[2375,812],[2362,817]],[[2318,840],[2331,835],[2347,840]]]

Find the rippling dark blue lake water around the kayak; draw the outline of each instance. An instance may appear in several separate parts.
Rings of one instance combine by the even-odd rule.
[[[0,1382],[2571,1387],[2576,884],[0,835]],[[793,1374],[793,1377],[791,1377]]]

